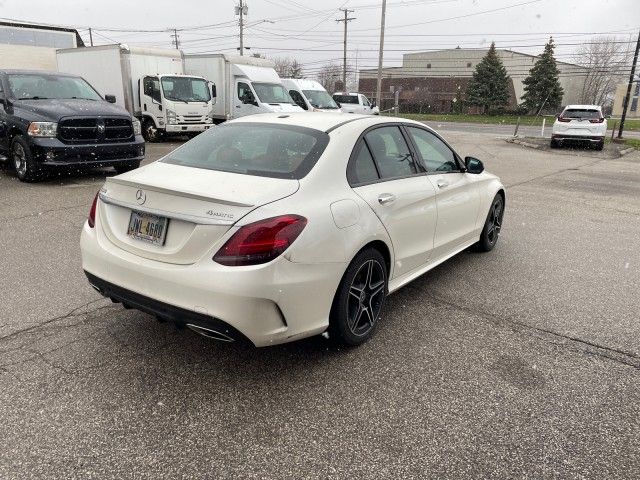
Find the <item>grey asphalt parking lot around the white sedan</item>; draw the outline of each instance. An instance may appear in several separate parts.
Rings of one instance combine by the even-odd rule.
[[[111,304],[78,245],[105,174],[0,172],[0,478],[640,476],[640,154],[446,137],[507,185],[500,242],[346,350]]]

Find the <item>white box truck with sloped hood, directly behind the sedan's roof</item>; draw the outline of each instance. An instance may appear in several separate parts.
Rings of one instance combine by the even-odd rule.
[[[226,54],[184,55],[185,73],[213,83],[215,121],[269,112],[302,112],[264,58]]]

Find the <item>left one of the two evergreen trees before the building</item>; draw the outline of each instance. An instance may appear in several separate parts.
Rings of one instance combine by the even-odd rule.
[[[509,104],[509,81],[507,70],[496,53],[496,44],[491,42],[489,51],[476,65],[467,86],[467,104],[482,107],[483,113],[506,107]]]

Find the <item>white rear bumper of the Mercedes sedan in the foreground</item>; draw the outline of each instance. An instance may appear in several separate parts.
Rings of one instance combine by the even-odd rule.
[[[99,279],[91,283],[105,296],[177,323],[228,325],[258,347],[316,335],[328,326],[346,265],[299,264],[281,256],[264,265],[225,267],[212,260],[217,244],[198,262],[176,265],[122,250],[100,222],[98,215],[95,228],[85,223],[80,245],[82,268],[90,281]]]

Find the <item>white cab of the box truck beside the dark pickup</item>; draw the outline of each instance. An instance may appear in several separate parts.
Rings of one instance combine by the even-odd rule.
[[[194,136],[213,126],[210,82],[191,75],[146,75],[139,82],[142,133]]]

